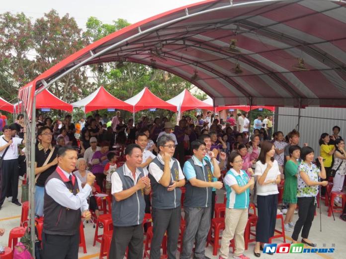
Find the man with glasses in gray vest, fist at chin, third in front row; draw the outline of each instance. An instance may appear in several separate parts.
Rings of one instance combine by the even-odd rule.
[[[175,259],[181,218],[180,187],[185,185],[185,177],[178,160],[173,158],[174,139],[169,134],[163,134],[156,145],[160,153],[149,165],[154,222],[150,258],[160,259],[160,247],[167,230],[168,258]]]

